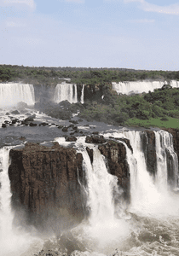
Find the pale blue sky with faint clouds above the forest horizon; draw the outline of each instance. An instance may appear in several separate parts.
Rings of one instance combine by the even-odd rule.
[[[179,2],[0,0],[0,64],[179,70]]]

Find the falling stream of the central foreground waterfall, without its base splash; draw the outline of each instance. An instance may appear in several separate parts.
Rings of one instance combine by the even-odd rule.
[[[113,189],[117,189],[118,178],[107,172],[104,156],[98,148],[93,148],[93,164],[86,151],[83,152],[90,207],[90,222],[97,224],[114,218]]]

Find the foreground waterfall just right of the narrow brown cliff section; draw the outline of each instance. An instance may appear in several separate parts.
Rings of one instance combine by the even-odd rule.
[[[147,172],[147,163],[142,150],[141,131],[124,131],[130,140],[133,154],[128,150],[127,160],[130,165],[131,207],[140,211],[148,211],[159,201],[159,192],[153,183],[153,177]]]

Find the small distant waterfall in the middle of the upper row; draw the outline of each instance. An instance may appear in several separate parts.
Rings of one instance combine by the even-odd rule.
[[[55,88],[55,102],[78,102],[77,84],[57,84]]]

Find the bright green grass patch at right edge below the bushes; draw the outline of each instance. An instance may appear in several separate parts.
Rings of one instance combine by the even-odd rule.
[[[174,119],[168,117],[168,120],[162,121],[161,118],[156,119],[148,119],[148,120],[141,120],[141,119],[128,119],[124,125],[127,126],[141,126],[145,128],[149,127],[159,127],[159,128],[174,128],[179,129],[179,119]]]

